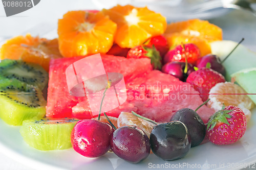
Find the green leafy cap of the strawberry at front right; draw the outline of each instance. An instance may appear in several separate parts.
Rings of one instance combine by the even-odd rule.
[[[233,110],[224,110],[224,109],[225,109],[225,105],[223,104],[221,110],[217,111],[215,114],[210,116],[207,123],[207,128],[206,128],[208,131],[213,129],[217,125],[217,123],[224,123],[224,124],[230,125],[227,121],[227,118],[232,117],[228,113],[230,113]]]

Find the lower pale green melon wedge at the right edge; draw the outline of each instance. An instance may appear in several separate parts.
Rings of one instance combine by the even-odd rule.
[[[233,82],[236,81],[247,93],[249,93],[247,95],[256,104],[256,66],[254,68],[238,71],[232,74],[231,77]]]

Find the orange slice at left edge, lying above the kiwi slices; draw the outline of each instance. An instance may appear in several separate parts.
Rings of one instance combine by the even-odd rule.
[[[46,38],[17,36],[7,40],[0,49],[1,59],[22,59],[26,62],[36,63],[49,70],[49,62],[52,58],[60,58],[58,40]]]

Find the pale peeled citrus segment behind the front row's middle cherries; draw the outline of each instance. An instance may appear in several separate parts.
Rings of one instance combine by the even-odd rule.
[[[137,126],[145,132],[148,138],[150,138],[150,133],[153,130],[153,127],[155,126],[155,124],[143,120],[142,118],[133,115],[133,113],[121,112],[117,119],[117,127],[119,128],[126,125]]]

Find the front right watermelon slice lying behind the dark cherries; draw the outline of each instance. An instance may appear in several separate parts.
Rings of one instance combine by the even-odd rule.
[[[193,86],[158,70],[153,70],[146,76],[135,79],[132,84],[136,84],[137,89],[131,92],[132,90],[129,89],[131,86],[127,87],[130,90],[127,100],[137,108],[136,113],[156,120],[156,122],[168,122],[179,109],[195,110],[203,103],[199,92]],[[204,105],[197,113],[204,123],[207,123],[214,111]]]

